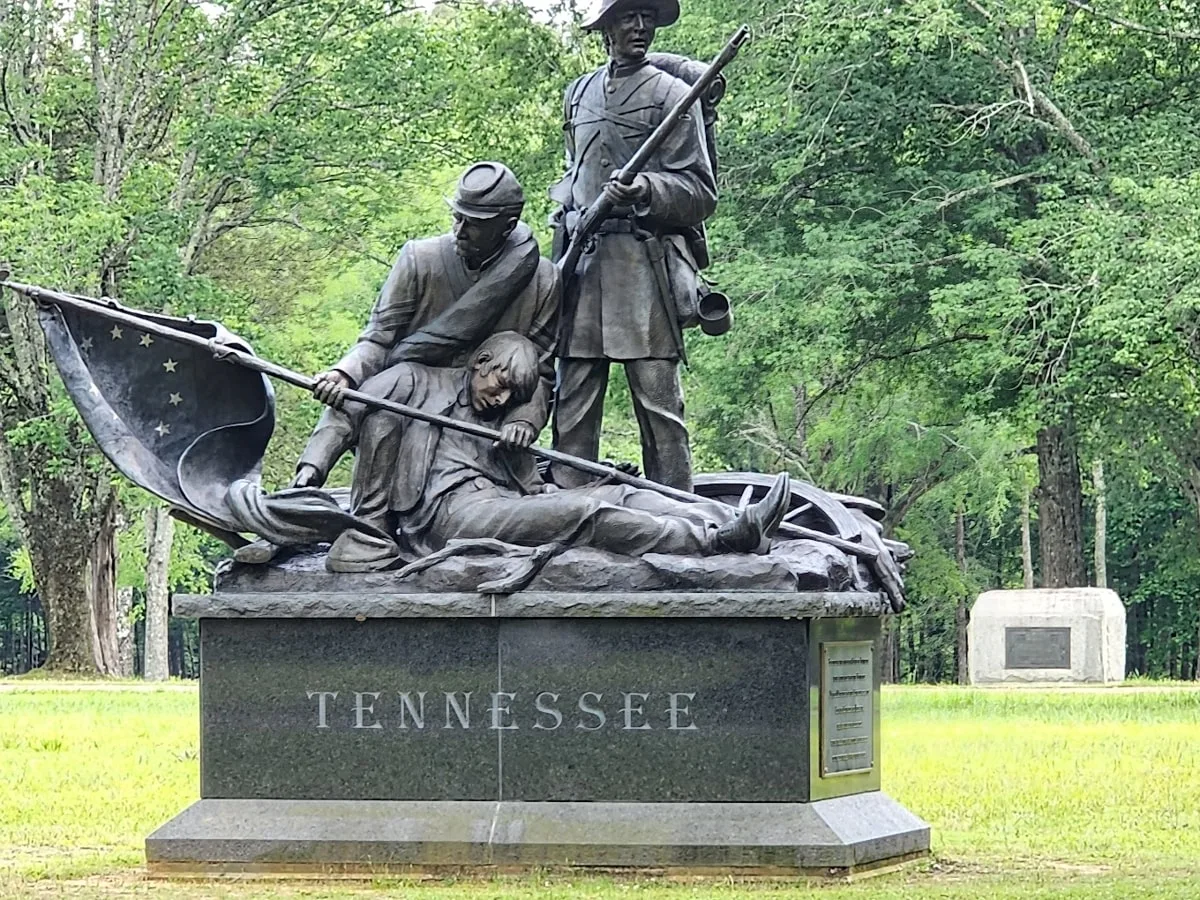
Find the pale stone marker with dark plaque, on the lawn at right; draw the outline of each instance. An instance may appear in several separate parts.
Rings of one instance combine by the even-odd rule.
[[[967,626],[972,684],[1124,680],[1126,611],[1105,588],[989,590]]]

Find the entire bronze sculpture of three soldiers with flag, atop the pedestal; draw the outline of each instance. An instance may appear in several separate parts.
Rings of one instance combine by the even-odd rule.
[[[877,504],[793,485],[786,473],[704,475],[696,490],[706,496],[692,490],[683,332],[731,324],[727,299],[700,272],[716,206],[721,71],[748,31],[708,65],[650,53],[656,30],[678,17],[678,0],[602,0],[586,23],[608,61],[564,94],[568,164],[550,188],[550,259],[522,222],[516,175],[500,162],[469,166],[446,200],[450,233],[401,248],[359,340],[314,378],[254,355],[220,323],[6,272],[0,288],[37,304],[62,383],[108,458],[234,547],[236,562],[329,545],[331,571],[407,577],[484,553],[518,565],[479,590],[511,593],[575,547],[772,553],[768,565],[796,584],[850,578],[899,611],[911,551],[882,535]],[[625,368],[646,478],[599,462],[614,362]],[[290,486],[268,492],[271,378],[311,390],[326,409]],[[547,425],[550,449],[536,443]],[[352,451],[347,497],[325,482]],[[773,544],[776,534],[784,540]],[[808,541],[826,550],[812,557]]]

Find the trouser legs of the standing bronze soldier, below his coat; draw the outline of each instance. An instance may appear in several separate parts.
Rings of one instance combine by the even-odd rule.
[[[554,394],[554,449],[586,460],[600,454],[604,397],[608,389],[607,359],[558,360]],[[673,359],[622,360],[634,413],[642,437],[642,472],[660,485],[691,490],[691,448],[683,420],[679,361]],[[578,487],[590,476],[554,466],[554,482]]]

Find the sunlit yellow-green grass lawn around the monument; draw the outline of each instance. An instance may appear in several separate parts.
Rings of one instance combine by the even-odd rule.
[[[192,685],[0,682],[0,898],[625,895],[1200,899],[1200,689],[889,688],[883,790],[934,859],[852,884],[158,882],[142,841],[198,794]]]

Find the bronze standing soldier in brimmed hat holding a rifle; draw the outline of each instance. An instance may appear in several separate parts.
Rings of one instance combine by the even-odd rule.
[[[678,18],[677,0],[604,0],[584,23],[604,35],[610,61],[566,89],[568,168],[550,191],[560,205],[556,257],[568,240],[586,240],[582,254],[576,248],[574,277],[570,266],[564,270],[554,446],[596,458],[608,366],[622,362],[646,475],[691,490],[682,329],[696,324],[697,263],[707,264],[703,222],[716,208],[701,104],[688,109],[628,184],[613,178],[689,92],[688,82],[656,65],[680,58],[647,56],[655,30]],[[598,200],[612,211],[584,238],[580,217]],[[554,467],[553,478],[571,487],[587,476]]]

